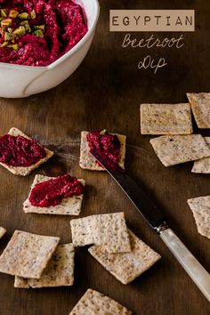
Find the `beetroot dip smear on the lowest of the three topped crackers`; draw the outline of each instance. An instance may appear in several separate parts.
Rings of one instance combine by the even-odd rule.
[[[84,186],[76,177],[65,174],[46,182],[39,182],[31,190],[29,201],[32,206],[57,206],[63,198],[78,196],[84,192]]]

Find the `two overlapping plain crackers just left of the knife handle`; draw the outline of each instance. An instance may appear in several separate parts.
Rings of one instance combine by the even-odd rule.
[[[125,223],[125,214],[95,214],[71,220],[72,242],[88,251],[124,285],[139,277],[160,255],[137,238]]]

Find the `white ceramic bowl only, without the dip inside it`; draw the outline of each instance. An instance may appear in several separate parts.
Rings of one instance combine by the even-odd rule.
[[[0,97],[20,98],[40,93],[59,85],[84,60],[100,13],[98,0],[75,0],[85,10],[88,32],[81,41],[60,59],[47,67],[12,65],[0,62]]]

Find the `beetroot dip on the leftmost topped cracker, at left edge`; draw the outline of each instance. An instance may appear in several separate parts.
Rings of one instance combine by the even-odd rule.
[[[32,166],[45,156],[44,146],[36,140],[10,134],[0,137],[0,162],[7,166]]]

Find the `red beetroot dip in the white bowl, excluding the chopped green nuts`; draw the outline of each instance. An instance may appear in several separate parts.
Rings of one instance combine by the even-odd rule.
[[[28,18],[31,29],[44,25],[44,36],[32,31],[16,39],[19,49],[0,48],[0,61],[26,66],[47,66],[74,47],[86,34],[85,13],[79,4],[71,0],[0,0],[0,9],[18,12],[36,12],[36,18]],[[29,15],[30,16],[30,15]],[[19,19],[12,20],[12,28]],[[0,37],[0,45],[4,39]]]

